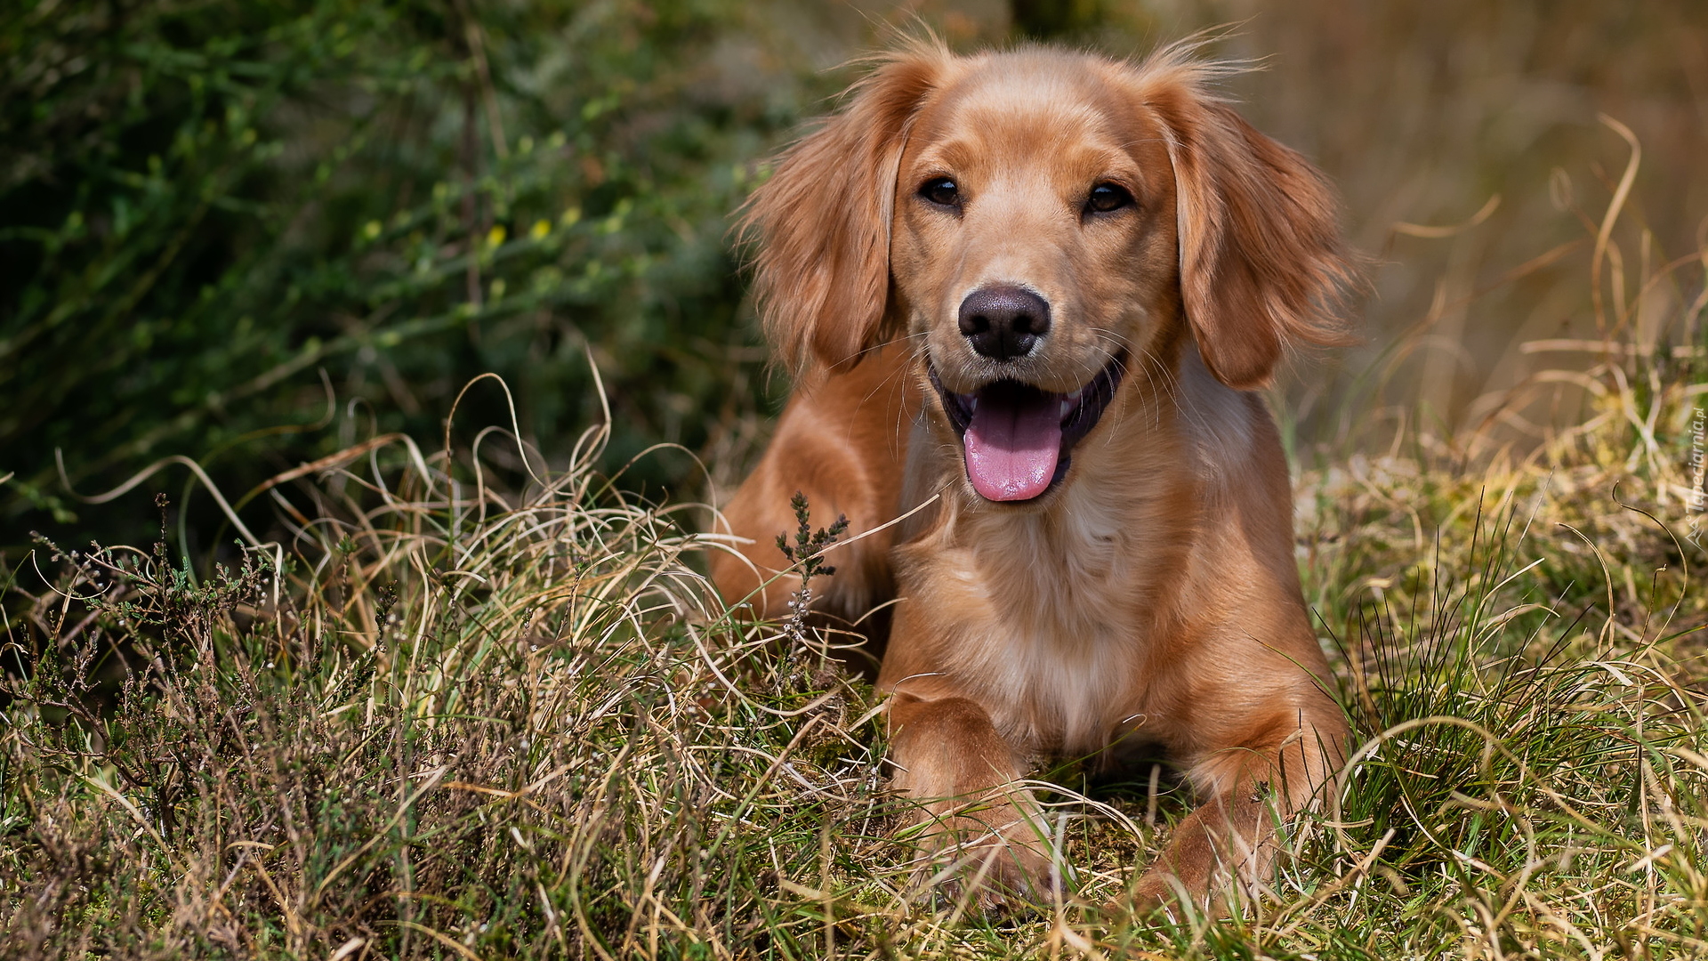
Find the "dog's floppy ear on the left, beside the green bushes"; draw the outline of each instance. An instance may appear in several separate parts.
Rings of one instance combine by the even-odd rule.
[[[883,56],[746,202],[740,231],[758,248],[760,323],[796,374],[813,361],[857,364],[886,335],[897,168],[946,62],[946,50],[924,43]]]

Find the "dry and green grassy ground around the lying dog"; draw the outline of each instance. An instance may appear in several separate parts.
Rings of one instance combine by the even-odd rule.
[[[603,427],[529,477],[500,426],[282,475],[256,494],[292,537],[232,532],[237,569],[41,544],[7,571],[0,954],[1703,954],[1703,304],[1624,323],[1650,289],[1587,292],[1607,342],[1479,429],[1375,410],[1298,448],[1361,747],[1240,917],[1093,910],[1189,799],[1073,766],[1042,773],[1071,898],[917,896],[873,691],[801,624],[733,622],[688,508],[588,467]]]

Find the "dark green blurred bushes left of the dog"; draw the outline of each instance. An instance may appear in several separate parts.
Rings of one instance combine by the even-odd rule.
[[[9,5],[0,545],[50,511],[61,535],[132,534],[135,504],[67,496],[56,451],[84,492],[184,453],[241,494],[372,433],[437,436],[485,371],[524,436],[572,438],[600,417],[589,352],[625,426],[615,463],[700,446],[704,412],[738,402],[731,364],[755,359],[724,217],[799,115],[787,89],[707,74],[741,17],[724,0]],[[488,383],[463,409],[509,422],[504,404]],[[632,480],[690,465],[649,458]]]

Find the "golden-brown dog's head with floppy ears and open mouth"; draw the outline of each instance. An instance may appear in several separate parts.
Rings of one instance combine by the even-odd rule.
[[[1334,200],[1216,101],[1214,65],[1021,50],[880,60],[753,195],[757,292],[796,368],[907,337],[972,487],[1059,484],[1141,363],[1189,330],[1231,388],[1341,339]]]

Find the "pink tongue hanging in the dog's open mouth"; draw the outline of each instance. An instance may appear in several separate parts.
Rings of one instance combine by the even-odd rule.
[[[967,426],[967,477],[974,491],[991,501],[1037,498],[1050,486],[1061,455],[1061,397],[984,393]]]

